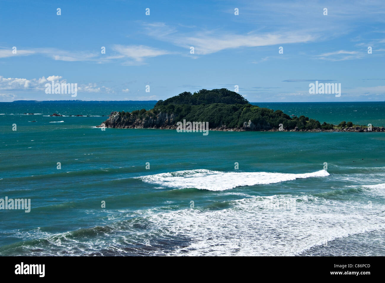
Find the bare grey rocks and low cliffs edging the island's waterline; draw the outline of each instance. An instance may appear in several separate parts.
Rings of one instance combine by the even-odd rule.
[[[119,112],[111,112],[109,118],[102,124],[96,127],[106,128],[120,128],[120,129],[177,129],[174,114],[167,114],[160,112],[155,117],[147,117],[146,119],[135,119],[132,120],[128,116],[121,116]],[[244,132],[244,131],[259,131],[259,132],[385,132],[384,127],[372,126],[372,131],[368,130],[368,127],[343,127],[335,129],[277,129],[275,127],[270,129],[261,129],[260,125],[254,125],[250,120],[243,123],[243,127],[239,128],[228,128],[226,126],[209,128],[210,131],[233,131],[233,132]]]

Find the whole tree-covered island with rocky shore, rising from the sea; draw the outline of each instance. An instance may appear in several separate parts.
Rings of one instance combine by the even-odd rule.
[[[252,105],[242,95],[228,89],[201,89],[182,92],[159,100],[151,110],[114,111],[96,127],[177,129],[178,122],[208,122],[212,131],[329,131],[384,132],[384,127],[341,122],[321,124],[305,116],[290,117],[281,110]]]

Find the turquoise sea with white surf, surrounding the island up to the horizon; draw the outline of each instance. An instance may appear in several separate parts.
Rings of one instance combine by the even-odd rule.
[[[0,255],[385,255],[385,133],[95,128],[154,104],[0,103],[0,198],[31,199]],[[253,104],[385,126],[385,102]]]

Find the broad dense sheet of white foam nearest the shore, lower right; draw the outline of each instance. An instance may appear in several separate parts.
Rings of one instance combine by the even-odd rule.
[[[295,200],[296,208],[269,209],[272,200]],[[337,238],[385,229],[384,205],[315,196],[278,195],[231,201],[220,210],[182,209],[150,214],[153,229],[191,239],[171,255],[292,256]],[[330,243],[329,243],[330,244]]]

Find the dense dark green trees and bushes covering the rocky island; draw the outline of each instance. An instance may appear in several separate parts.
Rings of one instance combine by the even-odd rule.
[[[251,105],[236,92],[227,89],[201,89],[198,92],[182,92],[166,100],[159,100],[154,109],[119,112],[130,122],[136,119],[156,119],[159,113],[175,115],[175,122],[196,121],[209,122],[210,128],[226,126],[228,128],[243,127],[244,122],[251,121],[256,130],[279,128],[283,124],[285,129],[333,129],[333,124],[322,125],[315,119],[290,117],[281,110]],[[346,125],[346,122],[343,122]],[[341,125],[341,124],[340,124]],[[338,125],[338,126],[340,126]],[[340,126],[341,127],[341,126]]]

